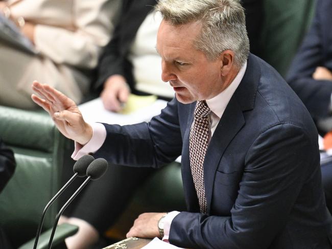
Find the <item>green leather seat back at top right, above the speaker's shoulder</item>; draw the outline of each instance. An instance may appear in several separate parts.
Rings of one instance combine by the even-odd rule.
[[[316,0],[264,0],[264,24],[258,56],[282,76],[287,74],[311,24]]]

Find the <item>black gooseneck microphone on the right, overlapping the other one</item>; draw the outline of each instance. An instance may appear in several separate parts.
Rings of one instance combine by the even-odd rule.
[[[100,177],[102,177],[105,174],[107,168],[108,168],[108,163],[103,158],[99,158],[92,161],[92,163],[90,163],[90,165],[87,167],[86,174],[88,177],[85,179],[82,185],[76,190],[76,192],[67,200],[67,202],[64,203],[63,207],[60,209],[59,213],[57,214],[57,217],[55,218],[48,249],[51,249],[52,247],[55,230],[57,229],[57,225],[63,211],[68,207],[70,202],[73,201],[73,199],[81,192],[81,190],[88,184],[90,180],[97,180]]]

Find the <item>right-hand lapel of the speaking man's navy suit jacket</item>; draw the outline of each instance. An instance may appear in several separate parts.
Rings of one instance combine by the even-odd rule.
[[[245,125],[243,111],[254,108],[259,79],[260,66],[257,57],[250,54],[243,79],[231,97],[206,151],[204,186],[208,213],[219,162],[229,143]]]

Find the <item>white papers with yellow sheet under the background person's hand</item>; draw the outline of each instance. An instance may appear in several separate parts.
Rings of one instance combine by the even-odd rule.
[[[167,101],[157,100],[155,96],[137,96],[131,94],[124,109],[117,113],[104,108],[101,98],[93,99],[79,105],[83,118],[88,123],[102,122],[108,124],[128,125],[149,122],[166,107]]]

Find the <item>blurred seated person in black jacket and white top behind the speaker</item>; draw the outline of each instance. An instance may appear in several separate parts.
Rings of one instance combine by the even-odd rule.
[[[253,27],[260,27],[262,23],[257,18],[262,17],[262,0],[243,2],[244,7],[250,9],[247,29],[253,31]],[[161,80],[161,58],[155,49],[162,19],[154,11],[156,4],[156,0],[123,1],[120,20],[101,56],[94,85],[95,90],[101,91],[104,107],[108,110],[120,111],[130,93],[156,95],[164,100],[174,97],[173,88]],[[255,32],[253,45],[258,42]],[[155,171],[109,165],[105,176],[87,186],[72,207],[65,210],[61,221],[80,227],[75,236],[66,239],[67,247],[89,248],[96,243],[125,210],[135,190]],[[72,172],[68,172],[68,176],[70,174]]]

